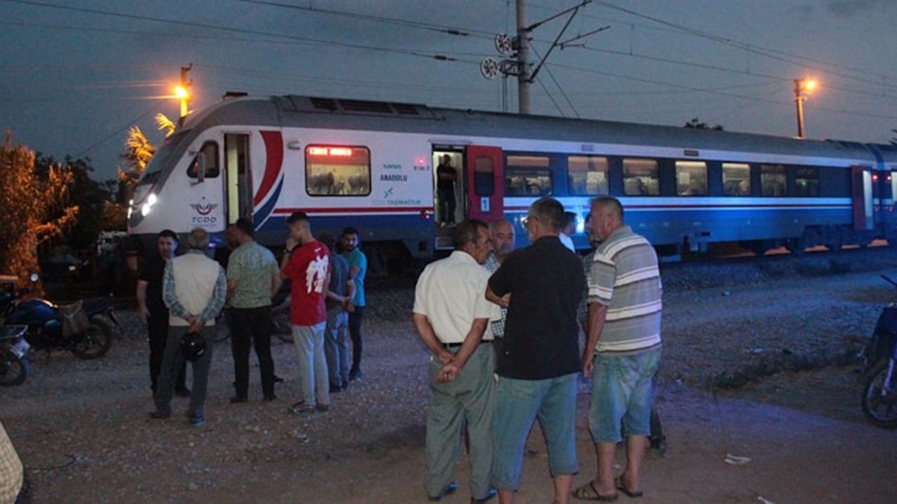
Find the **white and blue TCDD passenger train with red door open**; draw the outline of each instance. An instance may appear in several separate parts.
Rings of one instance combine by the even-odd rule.
[[[187,117],[140,178],[128,231],[144,246],[163,229],[220,240],[247,217],[273,247],[300,210],[316,233],[353,226],[366,248],[429,257],[451,245],[436,215],[443,155],[458,172],[455,221],[508,218],[518,245],[542,196],[578,215],[578,248],[599,195],[670,256],[897,238],[893,145],[294,95],[225,98]]]

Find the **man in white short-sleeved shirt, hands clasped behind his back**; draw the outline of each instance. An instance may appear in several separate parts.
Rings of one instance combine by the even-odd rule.
[[[427,474],[431,501],[457,489],[453,482],[461,428],[470,435],[471,502],[495,496],[492,480],[492,411],[495,353],[491,320],[499,306],[485,299],[492,250],[484,222],[465,221],[453,233],[455,251],[428,265],[414,291],[414,326],[432,352],[427,415]]]

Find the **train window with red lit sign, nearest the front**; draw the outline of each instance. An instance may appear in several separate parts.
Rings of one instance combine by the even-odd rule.
[[[306,146],[305,192],[309,196],[370,195],[370,149],[355,145]]]

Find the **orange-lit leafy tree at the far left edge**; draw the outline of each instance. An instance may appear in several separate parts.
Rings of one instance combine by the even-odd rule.
[[[17,275],[20,284],[40,269],[39,245],[60,236],[78,216],[78,206],[69,204],[71,169],[50,163],[41,172],[35,160],[6,133],[0,147],[0,273]]]

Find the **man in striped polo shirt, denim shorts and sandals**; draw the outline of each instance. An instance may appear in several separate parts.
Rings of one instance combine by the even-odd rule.
[[[574,495],[614,500],[616,491],[622,491],[639,497],[641,463],[651,433],[651,379],[661,352],[658,256],[647,239],[623,225],[623,205],[613,197],[592,202],[590,224],[601,244],[588,276],[582,369],[593,377],[588,425],[598,465],[595,480]],[[626,467],[614,478],[621,425],[628,437]]]

